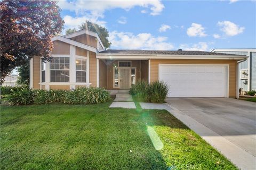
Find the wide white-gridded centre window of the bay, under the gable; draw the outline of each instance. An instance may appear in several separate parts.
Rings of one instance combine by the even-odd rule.
[[[51,82],[69,82],[69,57],[54,57],[50,62]]]

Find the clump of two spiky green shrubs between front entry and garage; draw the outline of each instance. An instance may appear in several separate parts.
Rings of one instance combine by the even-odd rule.
[[[147,81],[139,81],[130,88],[129,93],[141,102],[163,103],[168,90],[167,84],[161,81],[150,84]]]

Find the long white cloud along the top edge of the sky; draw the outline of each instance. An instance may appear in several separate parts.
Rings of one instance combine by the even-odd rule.
[[[77,14],[90,12],[92,15],[103,18],[106,10],[122,8],[129,11],[134,6],[141,6],[150,10],[150,15],[158,15],[162,12],[164,5],[159,0],[154,1],[84,1],[84,0],[61,0],[58,5],[62,10],[75,11]]]

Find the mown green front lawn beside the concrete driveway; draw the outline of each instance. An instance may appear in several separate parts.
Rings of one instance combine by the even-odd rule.
[[[1,169],[236,169],[167,111],[109,104],[2,106]]]

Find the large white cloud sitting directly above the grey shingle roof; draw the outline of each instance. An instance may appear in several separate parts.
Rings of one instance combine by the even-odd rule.
[[[173,45],[167,42],[167,37],[154,37],[150,33],[133,35],[131,32],[109,32],[111,47],[116,49],[151,49],[171,50]]]

